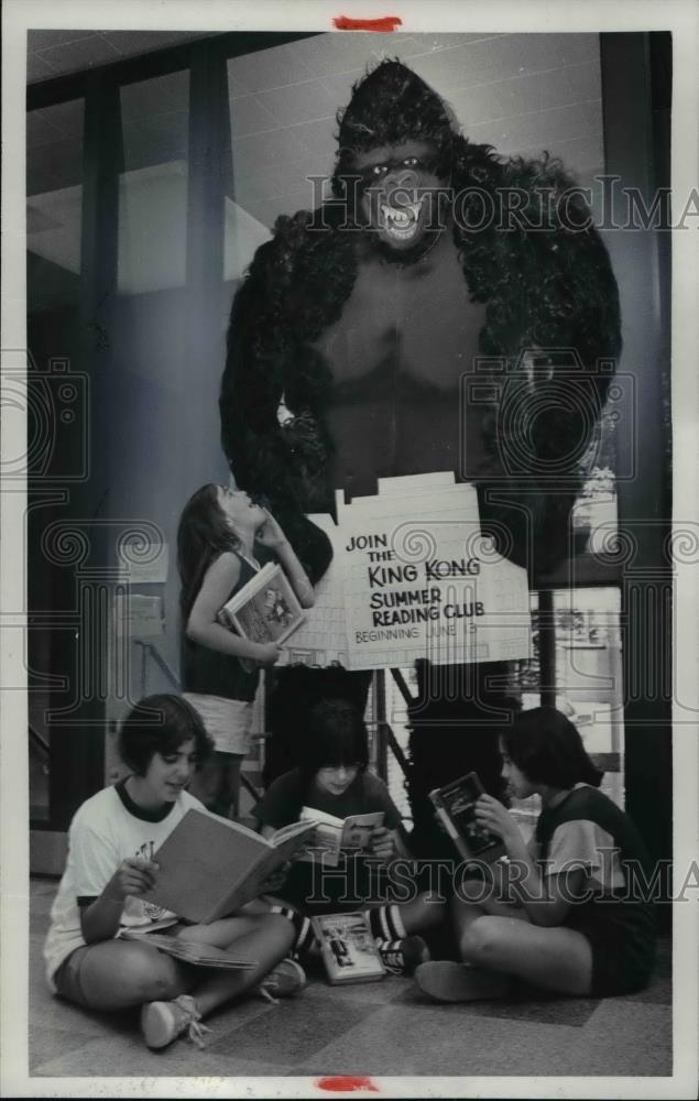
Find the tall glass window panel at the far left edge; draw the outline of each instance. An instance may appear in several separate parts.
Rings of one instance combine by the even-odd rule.
[[[78,295],[85,103],[69,100],[26,116],[26,519],[30,611],[74,607],[72,570],[41,550],[46,526],[65,514],[51,487],[84,471],[85,391],[69,378],[79,357]],[[19,383],[18,383],[19,384]],[[54,493],[55,497],[55,493]],[[30,811],[50,820],[52,693],[75,667],[75,629],[28,635]]]

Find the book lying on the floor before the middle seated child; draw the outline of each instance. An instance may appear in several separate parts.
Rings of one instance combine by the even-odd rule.
[[[328,982],[375,982],[386,969],[364,914],[323,914],[312,917]]]

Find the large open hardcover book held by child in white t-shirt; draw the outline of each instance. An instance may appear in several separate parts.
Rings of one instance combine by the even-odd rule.
[[[273,872],[298,854],[313,829],[312,822],[293,822],[265,840],[247,826],[193,808],[155,852],[157,880],[142,897],[208,925],[262,894]]]

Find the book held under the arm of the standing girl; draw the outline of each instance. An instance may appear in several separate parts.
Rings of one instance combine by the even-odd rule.
[[[234,592],[218,613],[222,626],[262,645],[284,642],[305,618],[286,574],[271,562]]]

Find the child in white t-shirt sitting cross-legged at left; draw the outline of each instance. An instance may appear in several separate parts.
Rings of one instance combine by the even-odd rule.
[[[284,916],[243,909],[186,926],[141,897],[157,879],[159,847],[190,808],[201,807],[186,785],[210,748],[201,720],[181,697],[151,696],[132,709],[120,731],[121,756],[132,771],[76,813],[44,946],[54,992],[90,1010],[142,1006],[142,1032],[153,1048],[185,1031],[201,1046],[201,1017],[253,986],[281,995],[303,985],[302,969],[284,959],[294,940]],[[159,951],[146,937],[127,939],[154,927],[183,942],[231,950],[248,966],[205,968]]]

